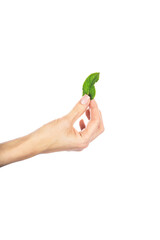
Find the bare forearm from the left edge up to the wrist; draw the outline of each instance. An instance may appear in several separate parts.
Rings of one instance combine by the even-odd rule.
[[[0,144],[0,167],[33,157],[41,152],[37,133]]]

